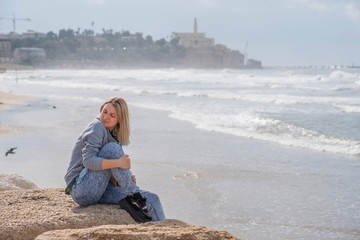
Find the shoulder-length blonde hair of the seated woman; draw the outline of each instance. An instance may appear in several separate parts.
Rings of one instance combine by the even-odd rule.
[[[102,112],[104,106],[111,103],[116,110],[116,117],[118,124],[115,126],[112,134],[117,136],[118,140],[122,145],[129,145],[130,143],[130,121],[129,121],[129,110],[124,99],[118,97],[112,97],[106,100],[100,107]]]

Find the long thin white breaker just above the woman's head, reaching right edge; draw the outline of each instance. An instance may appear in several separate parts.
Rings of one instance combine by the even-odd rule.
[[[259,94],[259,93],[246,93],[246,91],[230,91],[221,89],[182,89],[172,86],[141,86],[139,84],[125,84],[114,82],[99,83],[98,81],[65,81],[65,80],[52,80],[43,81],[37,79],[22,80],[26,84],[35,84],[49,87],[59,88],[73,88],[73,89],[96,89],[96,90],[111,90],[130,92],[136,95],[148,96],[162,96],[172,95],[177,97],[196,97],[196,98],[211,98],[211,99],[224,99],[224,100],[239,100],[244,102],[263,103],[263,104],[276,104],[276,105],[297,105],[297,104],[331,104],[344,105],[351,104],[357,105],[359,98],[355,97],[327,97],[327,96],[296,96],[288,94]],[[277,85],[280,86],[280,85]]]

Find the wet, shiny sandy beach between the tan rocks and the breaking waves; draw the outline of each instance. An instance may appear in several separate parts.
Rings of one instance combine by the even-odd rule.
[[[45,71],[41,77],[62,80],[64,73]],[[74,74],[80,78],[84,72]],[[130,108],[131,144],[124,149],[132,171],[141,188],[160,196],[168,218],[245,240],[360,236],[356,156],[206,131],[172,112],[139,106],[152,99],[147,92],[89,88],[75,80],[53,86],[36,72],[19,79],[16,84],[9,74],[3,91],[32,98],[0,110],[0,124],[16,130],[0,135],[1,174],[16,173],[40,188],[64,187],[75,140],[101,103],[116,95]],[[5,157],[10,147],[16,153]]]

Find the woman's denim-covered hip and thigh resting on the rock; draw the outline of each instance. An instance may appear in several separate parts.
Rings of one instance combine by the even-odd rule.
[[[71,197],[79,205],[96,204],[104,195],[110,177],[110,170],[92,171],[84,168],[73,185]]]

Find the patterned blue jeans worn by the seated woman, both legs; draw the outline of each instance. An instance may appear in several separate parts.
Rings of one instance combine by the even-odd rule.
[[[118,159],[124,155],[121,145],[117,143],[106,144],[99,152],[99,157],[105,159]],[[113,175],[121,187],[110,183]],[[71,190],[71,197],[79,205],[92,205],[97,203],[118,204],[128,194],[140,192],[147,199],[146,205],[153,221],[165,219],[165,214],[158,195],[141,190],[131,179],[128,169],[112,168],[93,171],[84,168]]]

